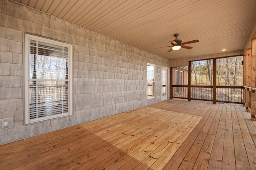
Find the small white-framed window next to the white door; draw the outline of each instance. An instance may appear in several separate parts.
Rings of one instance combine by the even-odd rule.
[[[147,99],[155,98],[155,68],[156,65],[147,63],[146,94]]]

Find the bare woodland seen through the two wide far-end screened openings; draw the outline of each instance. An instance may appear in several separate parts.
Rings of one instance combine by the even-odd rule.
[[[243,56],[216,59],[216,86],[243,86]],[[191,85],[212,86],[213,60],[191,62]],[[191,88],[191,98],[212,100],[212,87]],[[216,100],[242,101],[241,88],[217,88]]]

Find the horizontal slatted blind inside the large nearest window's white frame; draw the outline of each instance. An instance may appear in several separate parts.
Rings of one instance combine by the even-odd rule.
[[[29,119],[68,113],[68,48],[30,40]]]

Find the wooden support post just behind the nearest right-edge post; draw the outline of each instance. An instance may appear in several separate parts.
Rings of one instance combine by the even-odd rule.
[[[246,50],[246,107],[245,111],[249,111],[249,89],[251,87],[251,69],[252,69],[252,62],[251,62],[251,49]]]

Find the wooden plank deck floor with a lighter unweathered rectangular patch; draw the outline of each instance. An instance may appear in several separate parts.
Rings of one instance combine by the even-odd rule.
[[[166,100],[0,146],[0,169],[256,169],[244,107]]]

